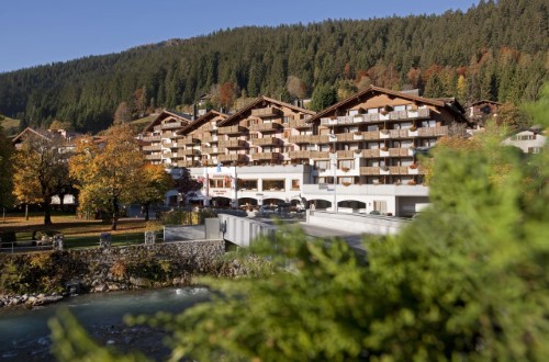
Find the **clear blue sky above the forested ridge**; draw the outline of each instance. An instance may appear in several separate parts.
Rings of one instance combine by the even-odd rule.
[[[243,25],[467,10],[478,0],[2,0],[0,72]]]

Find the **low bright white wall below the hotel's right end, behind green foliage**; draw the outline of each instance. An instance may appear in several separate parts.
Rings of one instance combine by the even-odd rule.
[[[354,234],[392,235],[410,222],[397,217],[307,211],[307,224]]]

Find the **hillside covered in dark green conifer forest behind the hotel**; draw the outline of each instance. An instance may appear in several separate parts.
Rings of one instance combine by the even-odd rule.
[[[96,132],[112,123],[122,102],[138,117],[206,92],[227,108],[242,95],[289,101],[327,84],[343,98],[369,83],[421,88],[427,97],[457,95],[463,103],[520,103],[536,99],[547,79],[548,38],[547,0],[242,27],[0,73],[0,114],[23,120],[22,127],[60,120]]]

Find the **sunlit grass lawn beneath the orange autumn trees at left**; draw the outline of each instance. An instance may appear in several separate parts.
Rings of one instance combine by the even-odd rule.
[[[123,218],[119,220],[117,229],[111,230],[111,224],[101,220],[86,220],[77,218],[74,214],[53,213],[53,225],[44,226],[42,213],[31,214],[25,220],[24,214],[7,214],[5,219],[0,215],[0,234],[14,231],[19,244],[30,244],[33,231],[56,230],[65,235],[66,248],[89,248],[99,245],[99,235],[110,233],[112,245],[122,246],[143,244],[147,223],[142,218]],[[158,229],[160,226],[158,226]]]

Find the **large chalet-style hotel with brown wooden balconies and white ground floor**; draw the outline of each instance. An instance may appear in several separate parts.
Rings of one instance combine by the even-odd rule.
[[[181,127],[165,137],[168,120]],[[149,151],[159,154],[149,160],[190,168],[204,183],[198,197],[205,205],[305,201],[316,210],[411,216],[428,203],[416,154],[456,125],[467,120],[455,99],[370,87],[317,114],[261,97],[232,115],[160,115],[147,129],[157,132]]]

